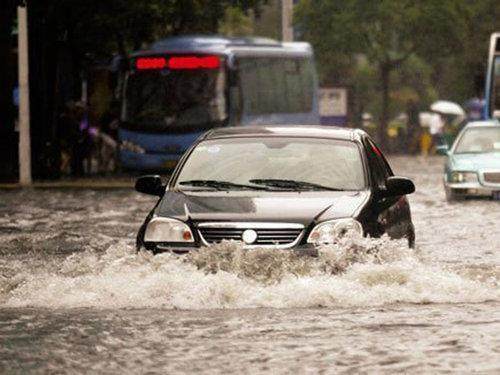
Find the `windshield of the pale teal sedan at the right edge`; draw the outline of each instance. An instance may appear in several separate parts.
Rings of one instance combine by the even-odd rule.
[[[455,148],[455,154],[483,152],[500,152],[500,126],[468,129]]]

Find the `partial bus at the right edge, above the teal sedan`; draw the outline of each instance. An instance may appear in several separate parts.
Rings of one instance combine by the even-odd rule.
[[[500,119],[500,33],[490,39],[484,117]]]

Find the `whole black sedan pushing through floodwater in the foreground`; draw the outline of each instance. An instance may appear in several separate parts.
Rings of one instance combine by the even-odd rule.
[[[312,249],[346,233],[415,241],[396,177],[363,131],[323,126],[219,128],[136,190],[161,199],[142,225],[138,248],[187,252],[221,242],[248,248]]]

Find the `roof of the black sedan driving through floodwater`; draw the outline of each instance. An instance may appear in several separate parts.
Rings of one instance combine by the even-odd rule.
[[[215,128],[203,140],[240,137],[310,137],[359,141],[366,133],[360,129],[321,125],[252,125]]]

